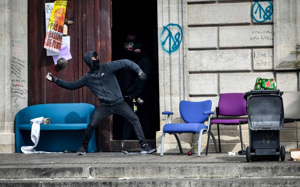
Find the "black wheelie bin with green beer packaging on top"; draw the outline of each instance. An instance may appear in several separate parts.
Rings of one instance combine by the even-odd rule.
[[[249,142],[247,162],[257,160],[284,161],[285,149],[280,147],[279,133],[283,127],[283,92],[279,90],[251,90],[244,94],[247,101]]]

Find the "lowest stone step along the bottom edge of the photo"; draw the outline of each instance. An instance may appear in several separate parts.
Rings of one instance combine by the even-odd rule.
[[[180,186],[180,187],[218,187],[218,186],[260,186],[260,187],[298,187],[300,178],[131,178],[118,179],[55,179],[55,180],[0,180],[0,187],[56,187],[56,186],[110,186],[110,187],[153,187],[153,186]]]

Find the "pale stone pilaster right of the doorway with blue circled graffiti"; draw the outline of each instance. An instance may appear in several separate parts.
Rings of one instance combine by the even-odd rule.
[[[186,6],[183,0],[158,0],[158,63],[159,63],[159,105],[160,105],[160,130],[156,134],[158,152],[160,151],[163,125],[167,116],[163,111],[172,111],[170,123],[181,123],[179,102],[188,100],[187,66],[184,34],[186,31]],[[190,150],[192,136],[190,134],[179,135],[184,150]],[[166,150],[178,151],[174,135],[166,135]]]

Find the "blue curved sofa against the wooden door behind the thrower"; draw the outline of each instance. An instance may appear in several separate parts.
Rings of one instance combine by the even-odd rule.
[[[87,103],[42,104],[22,109],[15,118],[16,152],[20,153],[22,146],[33,145],[30,120],[42,116],[50,118],[51,124],[40,125],[40,138],[34,149],[76,152],[94,111],[95,107]],[[87,151],[97,151],[95,131]]]

